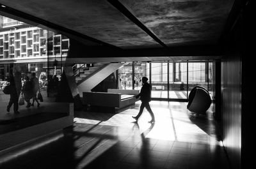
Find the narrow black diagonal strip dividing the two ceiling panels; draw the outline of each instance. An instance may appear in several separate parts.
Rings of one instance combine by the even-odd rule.
[[[110,4],[112,4],[118,11],[120,11],[121,13],[123,13],[123,15],[125,15],[125,17],[129,18],[129,20],[131,20],[132,22],[134,22],[134,24],[136,24],[138,27],[140,27],[143,31],[145,31],[145,33],[147,33],[149,36],[151,36],[151,38],[153,38],[155,41],[157,41],[157,43],[159,43],[160,45],[162,45],[163,47],[167,47],[163,41],[161,41],[156,34],[152,33],[152,31],[150,31],[142,22],[140,22],[140,20],[138,20],[137,17],[135,17],[131,11],[129,11],[122,3],[120,3],[118,0],[108,0],[108,2]]]

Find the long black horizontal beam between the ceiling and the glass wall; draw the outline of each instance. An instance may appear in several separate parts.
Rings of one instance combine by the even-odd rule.
[[[139,48],[109,50],[109,48],[85,47],[76,40],[70,40],[72,56],[68,57],[177,57],[223,55],[224,49],[218,45],[180,46],[168,48]],[[70,52],[69,51],[69,52]],[[74,52],[75,51],[75,52]],[[81,55],[83,53],[83,55]]]

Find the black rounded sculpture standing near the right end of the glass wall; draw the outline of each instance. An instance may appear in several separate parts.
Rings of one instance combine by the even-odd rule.
[[[189,93],[187,108],[196,114],[205,114],[211,103],[209,92],[204,87],[196,86]]]

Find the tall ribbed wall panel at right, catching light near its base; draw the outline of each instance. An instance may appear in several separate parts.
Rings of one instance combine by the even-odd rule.
[[[233,53],[221,62],[221,105],[223,144],[232,168],[241,164],[241,61]]]

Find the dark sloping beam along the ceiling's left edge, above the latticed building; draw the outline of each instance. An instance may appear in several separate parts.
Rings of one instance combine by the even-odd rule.
[[[28,13],[15,10],[13,8],[5,6],[4,4],[0,4],[0,15],[3,15],[5,17],[10,17],[15,20],[19,20],[26,24],[31,24],[32,26],[41,27],[43,29],[47,29],[47,30],[54,31],[56,33],[63,34],[68,38],[73,38],[78,41],[81,41],[81,43],[84,43],[84,45],[88,45],[88,46],[100,45],[108,48],[121,49],[119,47],[116,47],[104,41],[100,41],[90,36],[86,36],[84,34],[78,33],[77,31],[73,31],[71,29],[67,29],[66,27],[59,26],[57,24],[54,24],[42,18],[38,18],[33,15],[29,15]]]

